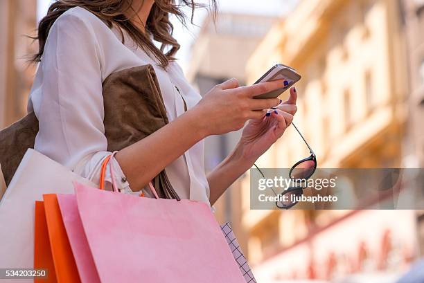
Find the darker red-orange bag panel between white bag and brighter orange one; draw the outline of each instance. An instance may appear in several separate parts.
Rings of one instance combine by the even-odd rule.
[[[53,256],[51,255],[50,241],[48,240],[46,212],[42,201],[35,201],[34,268],[47,270],[47,278],[35,278],[35,283],[58,282],[53,265]]]

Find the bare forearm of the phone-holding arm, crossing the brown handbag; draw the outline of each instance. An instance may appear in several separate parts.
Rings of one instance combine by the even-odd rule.
[[[132,190],[141,190],[166,165],[206,137],[195,109],[116,154]]]

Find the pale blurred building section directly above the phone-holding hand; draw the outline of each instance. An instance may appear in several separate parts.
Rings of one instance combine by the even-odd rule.
[[[246,82],[246,60],[276,21],[275,17],[219,12],[208,15],[192,46],[187,79],[204,94],[236,77]]]

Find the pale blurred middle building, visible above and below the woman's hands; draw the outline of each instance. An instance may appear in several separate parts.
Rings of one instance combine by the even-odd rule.
[[[192,46],[193,55],[186,74],[188,81],[202,95],[231,77],[245,84],[247,59],[275,21],[274,17],[228,12],[220,12],[215,23],[211,15],[206,17]],[[206,138],[206,170],[213,170],[231,152],[239,138],[239,132]],[[215,208],[219,221],[231,222],[240,245],[245,247],[247,238],[240,230],[240,210],[232,210],[233,206],[240,207],[240,183],[233,185]]]

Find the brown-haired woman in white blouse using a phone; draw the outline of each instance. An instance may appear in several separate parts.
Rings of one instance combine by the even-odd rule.
[[[198,6],[183,2],[193,11]],[[28,102],[39,120],[35,149],[98,183],[100,165],[110,154],[102,82],[116,71],[152,64],[170,123],[116,154],[112,162],[118,188],[139,192],[166,167],[180,197],[215,203],[282,136],[297,111],[297,94],[291,89],[283,104],[278,98],[254,100],[283,82],[239,86],[231,79],[202,98],[173,58],[179,44],[169,17],[183,19],[180,7],[173,0],[53,3],[39,24],[34,57],[39,67]],[[278,109],[267,113],[272,107]],[[236,148],[206,176],[204,138],[241,129],[248,120]]]

